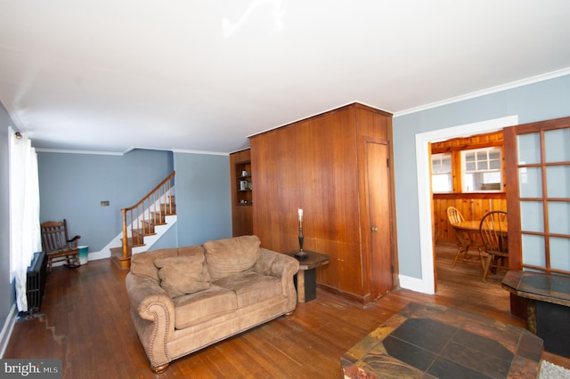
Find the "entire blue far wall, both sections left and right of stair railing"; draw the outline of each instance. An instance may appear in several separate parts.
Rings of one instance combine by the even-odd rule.
[[[132,206],[175,170],[177,222],[151,250],[232,236],[229,156],[134,149],[123,156],[39,152],[40,220],[67,219],[71,235],[100,251]],[[109,200],[110,206],[101,206]]]

